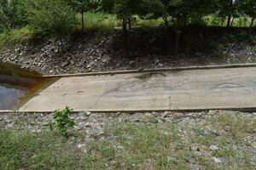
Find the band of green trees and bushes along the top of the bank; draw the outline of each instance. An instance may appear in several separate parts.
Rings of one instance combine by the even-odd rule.
[[[231,27],[238,20],[252,31],[256,18],[254,0],[1,0],[0,5],[0,33],[26,27],[61,37],[78,26],[84,31],[90,24],[84,23],[84,14],[90,12],[113,16],[123,29],[125,47],[130,46],[131,27],[139,20],[160,20],[176,32],[176,50],[184,28]]]

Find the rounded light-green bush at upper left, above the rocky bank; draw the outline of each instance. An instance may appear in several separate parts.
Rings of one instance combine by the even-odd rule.
[[[30,0],[27,20],[33,29],[63,35],[75,26],[74,14],[64,0]]]

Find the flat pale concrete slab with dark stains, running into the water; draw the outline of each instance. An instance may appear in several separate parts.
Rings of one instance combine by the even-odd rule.
[[[256,108],[255,89],[256,67],[62,77],[20,111]]]

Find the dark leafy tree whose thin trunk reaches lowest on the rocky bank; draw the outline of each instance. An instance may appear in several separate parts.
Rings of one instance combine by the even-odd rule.
[[[203,17],[216,10],[218,0],[144,0],[145,2],[148,4],[148,13],[151,10],[154,18],[162,18],[165,25],[172,26],[176,32],[175,52],[177,54],[183,27],[201,25]],[[193,30],[191,35],[193,35],[192,33]]]

